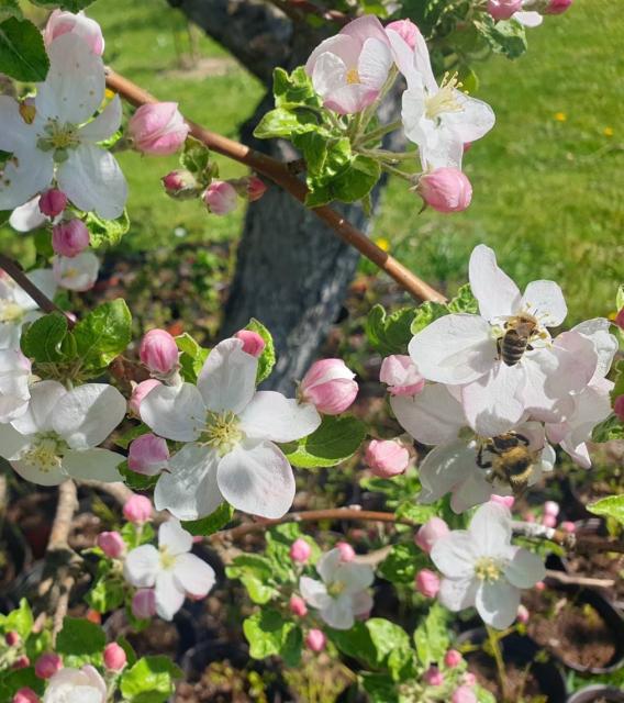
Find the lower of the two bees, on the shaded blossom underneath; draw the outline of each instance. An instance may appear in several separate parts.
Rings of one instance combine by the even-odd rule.
[[[535,462],[535,454],[528,449],[530,444],[524,435],[516,432],[486,439],[479,447],[477,466],[491,469],[488,481],[500,479],[511,487],[515,496],[522,495],[528,487]],[[491,455],[491,459],[486,460],[486,451]]]

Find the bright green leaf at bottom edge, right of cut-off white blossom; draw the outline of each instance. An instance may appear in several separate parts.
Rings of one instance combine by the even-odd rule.
[[[174,693],[174,680],[181,677],[169,657],[143,657],[124,672],[120,689],[130,703],[165,703]]]

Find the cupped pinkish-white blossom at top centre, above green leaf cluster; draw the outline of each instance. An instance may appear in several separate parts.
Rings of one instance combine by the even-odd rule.
[[[379,96],[392,67],[388,37],[379,20],[367,14],[321,42],[305,64],[325,108],[353,114]]]

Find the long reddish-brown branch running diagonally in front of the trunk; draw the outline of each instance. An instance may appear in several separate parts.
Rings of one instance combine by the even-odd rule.
[[[111,69],[107,72],[107,86],[119,93],[124,100],[133,105],[143,105],[158,102],[154,96],[140,88],[127,78],[115,74]],[[283,164],[270,156],[256,152],[238,142],[229,140],[202,127],[190,120],[187,120],[191,129],[191,134],[197,140],[205,144],[210,149],[226,156],[239,164],[248,166],[252,170],[270,178],[275,183],[281,186],[287,192],[299,202],[305,202],[308,188],[305,183],[292,175],[288,164]],[[414,276],[408,268],[390,256],[387,252],[378,247],[363,232],[345,220],[328,205],[312,208],[312,212],[328,225],[334,233],[350,246],[355,247],[363,256],[371,260],[382,271],[388,274],[394,281],[419,300],[432,300],[444,302],[445,297],[434,288],[425,283],[417,276]]]

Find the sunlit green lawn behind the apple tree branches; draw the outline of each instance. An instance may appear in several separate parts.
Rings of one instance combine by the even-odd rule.
[[[469,253],[484,242],[520,284],[558,280],[570,321],[609,313],[624,254],[624,21],[616,4],[578,0],[567,14],[530,30],[526,56],[477,65],[477,96],[492,104],[498,123],[465,159],[475,189],[470,209],[419,215],[420,202],[397,180],[374,236],[448,290],[466,280]],[[236,136],[261,86],[197,29],[189,31],[180,12],[165,0],[98,0],[89,13],[102,25],[107,60],[116,70],[159,99],[179,102],[191,119]],[[209,217],[198,202],[161,194],[158,180],[175,157],[119,158],[133,221],[125,250],[237,236],[242,208]],[[225,159],[220,165],[225,176],[244,172]],[[2,248],[23,249],[13,234],[0,236]]]

